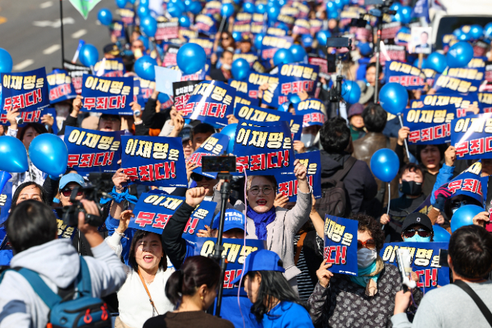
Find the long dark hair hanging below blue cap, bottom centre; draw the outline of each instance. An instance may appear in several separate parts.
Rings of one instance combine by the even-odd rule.
[[[258,297],[251,307],[256,321],[261,322],[263,316],[271,316],[268,311],[272,309],[272,301],[288,301],[306,306],[299,300],[299,296],[287,282],[287,279],[279,271],[250,271],[247,273],[248,279],[254,279],[256,275],[261,275],[261,284],[258,289]]]

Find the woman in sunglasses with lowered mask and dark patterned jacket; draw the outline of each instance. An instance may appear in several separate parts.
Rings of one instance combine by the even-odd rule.
[[[401,291],[401,275],[396,266],[383,263],[378,255],[384,243],[378,222],[364,214],[354,214],[351,219],[358,221],[358,275],[331,273],[331,264],[323,261],[316,272],[319,282],[308,300],[310,316],[322,327],[388,327],[392,300]],[[421,296],[419,290],[414,291],[416,304]]]

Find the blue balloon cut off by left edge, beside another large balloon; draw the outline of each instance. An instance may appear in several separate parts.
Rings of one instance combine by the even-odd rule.
[[[23,173],[29,169],[26,147],[15,137],[0,137],[0,170],[9,173]],[[65,167],[67,169],[67,167]]]

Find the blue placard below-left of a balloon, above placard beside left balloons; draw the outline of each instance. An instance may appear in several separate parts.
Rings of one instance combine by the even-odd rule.
[[[133,78],[82,76],[82,112],[133,115]]]

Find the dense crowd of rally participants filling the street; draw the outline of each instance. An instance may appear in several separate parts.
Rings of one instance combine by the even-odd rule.
[[[162,5],[162,1],[157,2]],[[346,35],[351,30],[350,19],[340,17],[340,12],[348,12],[349,8],[365,12],[360,1],[346,1],[345,5],[344,1],[339,1],[342,7],[335,10],[335,14],[325,1],[281,2],[283,8],[295,8],[295,15],[302,12],[296,3],[303,10],[306,8],[306,20],[320,21],[321,31],[328,31],[332,36]],[[252,69],[260,61],[262,49],[258,49],[256,35],[237,33],[234,29],[235,17],[245,12],[241,4],[234,6],[236,12],[222,21],[225,24],[220,24],[220,19],[214,21],[216,28],[220,28],[218,33],[204,33],[199,24],[189,27],[189,19],[197,19],[191,12],[186,14],[188,26],[181,27],[213,42],[206,80],[230,83],[235,78],[231,69],[237,58],[252,55],[255,58],[249,63]],[[169,15],[166,3],[160,9],[159,15]],[[207,12],[205,3],[202,12]],[[287,12],[282,15],[288,16]],[[267,15],[264,17],[266,19]],[[138,22],[138,17],[135,18]],[[270,20],[270,14],[268,18]],[[269,27],[282,30],[283,26],[283,22],[277,21]],[[137,76],[133,64],[142,55],[150,55],[164,66],[168,47],[188,41],[180,35],[174,44],[168,40],[156,42],[141,33],[138,24],[125,23],[124,28],[125,37],[113,33],[113,43],[105,46],[103,52],[108,60],[123,60],[125,76]],[[326,48],[326,40],[318,37],[318,31],[302,34],[292,28],[286,30],[285,35],[292,37],[294,44],[301,45],[309,57],[340,54],[340,49]],[[334,102],[331,90],[336,89],[337,74],[333,74],[333,81],[320,74],[316,97],[301,90],[292,92],[287,103],[279,107],[260,102],[258,107],[265,110],[295,115],[299,115],[295,110],[299,101],[317,98],[324,103],[323,121],[306,121],[305,116],[301,138],[292,143],[295,155],[319,153],[321,166],[316,174],[320,186],[309,183],[308,168],[299,159],[292,163],[295,202],[279,190],[279,175],[253,174],[231,180],[231,193],[222,209],[238,215],[225,216],[223,238],[244,240],[245,244],[247,239],[256,239],[264,241],[265,245],[265,249],[247,254],[243,269],[231,282],[224,280],[224,272],[214,259],[196,255],[195,241],[183,234],[192,213],[205,201],[216,202],[215,218],[213,223],[195,232],[196,238],[218,237],[221,186],[226,182],[197,171],[201,164],[189,159],[223,127],[187,119],[172,101],[166,101],[168,96],[162,97],[164,95],[155,89],[147,95],[145,104],[138,101],[130,104],[133,116],[89,114],[82,110],[84,98],[80,95],[52,104],[57,112],[56,120],[45,115],[39,123],[20,127],[19,110],[7,112],[8,124],[0,131],[19,139],[26,150],[35,137],[53,133],[53,125],[62,138],[67,127],[123,131],[128,136],[179,138],[184,157],[188,159],[188,187],[132,184],[128,172],[118,169],[113,171],[112,178],[98,175],[98,179],[105,179],[111,185],[107,193],[112,199],[88,200],[83,188],[96,181],[91,181],[85,173],[67,168],[62,176],[56,177],[38,169],[28,159],[27,171],[12,173],[10,208],[1,208],[3,213],[9,214],[0,223],[3,271],[0,328],[65,327],[65,322],[53,322],[53,307],[76,300],[78,293],[84,295],[79,287],[87,279],[89,284],[83,291],[102,300],[94,309],[87,308],[84,312],[86,325],[96,317],[117,328],[492,325],[492,299],[489,298],[492,236],[486,229],[490,207],[486,200],[490,202],[490,199],[486,197],[486,189],[480,201],[448,188],[459,173],[473,165],[480,166],[480,178],[489,177],[491,159],[484,156],[479,164],[475,164],[475,159],[459,159],[457,148],[449,142],[410,145],[411,128],[401,125],[398,117],[384,110],[380,103],[374,103],[374,94],[385,85],[385,76],[383,69],[376,65],[374,53],[362,46],[372,42],[373,35],[365,38],[354,40],[353,50],[344,55],[340,62],[342,69],[337,72],[344,74],[345,81],[352,80],[359,86],[358,101]],[[486,55],[492,60],[490,47]],[[415,56],[406,53],[406,58],[410,62]],[[261,74],[273,72],[275,66],[273,59],[263,61]],[[270,87],[271,83],[256,85],[254,93],[260,101]],[[425,95],[439,95],[439,91],[436,92],[429,85],[409,89],[407,108],[423,101]],[[466,115],[484,112],[477,104],[464,110]],[[228,123],[239,123],[236,116],[227,116]],[[393,150],[399,160],[399,164],[392,163],[397,166],[398,174],[389,184],[376,178],[371,167],[371,158],[383,148]],[[488,182],[481,181],[485,181],[482,184]],[[322,190],[321,198],[315,197],[315,187]],[[340,191],[337,196],[333,196],[334,189]],[[148,192],[184,200],[166,222],[162,234],[129,227],[132,219],[139,215],[134,211],[135,204],[142,193]],[[63,209],[73,202],[80,203],[84,210],[76,214],[78,225],[67,227]],[[469,225],[452,229],[452,221],[459,220],[453,214],[466,205],[477,205],[483,210],[473,216]],[[332,264],[327,263],[324,256],[326,214],[358,223],[354,236],[356,275],[331,272]],[[102,218],[103,225],[95,227],[87,223],[95,217]],[[383,261],[380,251],[385,243],[432,243],[437,230],[450,234],[447,259],[440,259],[440,263],[448,264],[451,283],[431,291],[419,287],[407,290],[401,271]],[[241,253],[243,255],[246,254]],[[37,285],[32,283],[33,273],[42,279]],[[414,272],[403,275],[414,282],[420,281]],[[235,285],[245,294],[223,295],[221,311],[214,313],[218,288],[226,284]],[[42,296],[47,292],[61,301],[47,301]],[[79,309],[82,307],[73,311]],[[96,313],[99,314],[96,316]],[[82,317],[77,319],[76,327],[82,327]]]

